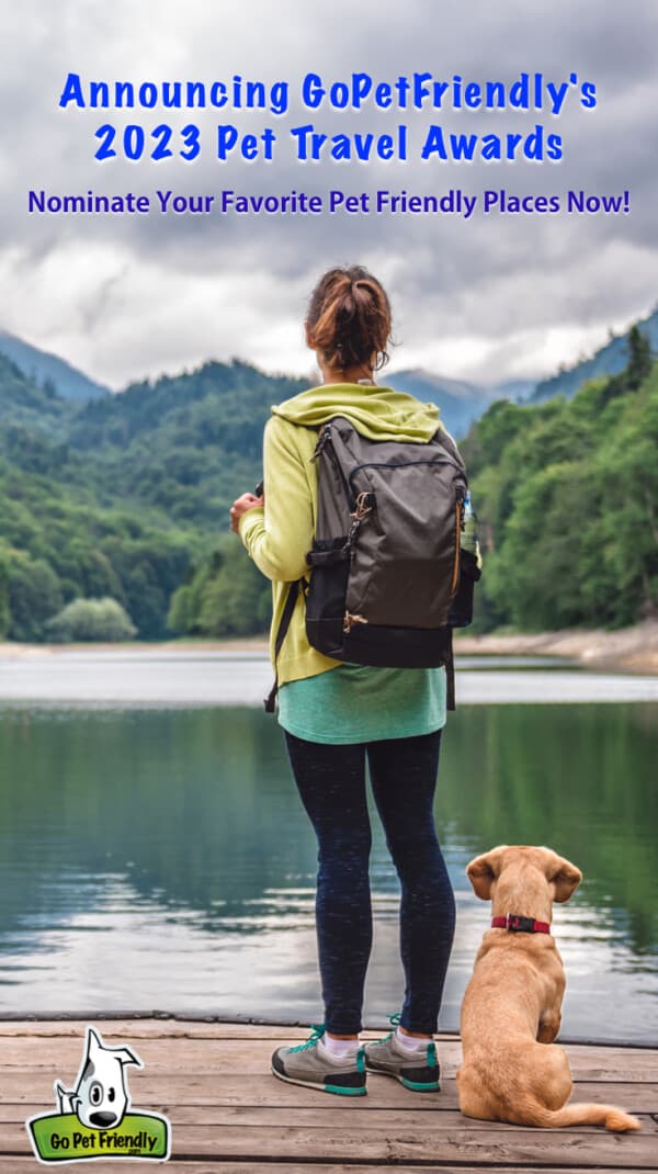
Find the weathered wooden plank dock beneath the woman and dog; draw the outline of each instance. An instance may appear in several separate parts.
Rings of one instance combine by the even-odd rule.
[[[87,1021],[109,1046],[133,1045],[143,1060],[143,1070],[128,1070],[131,1111],[161,1112],[171,1121],[170,1174],[658,1170],[658,1048],[568,1046],[575,1098],[612,1101],[642,1119],[640,1133],[615,1135],[591,1126],[530,1129],[462,1116],[454,1035],[439,1038],[441,1092],[414,1094],[371,1074],[368,1095],[352,1100],[270,1074],[273,1048],[305,1039],[304,1027],[97,1018],[0,1021],[0,1174],[43,1168],[25,1120],[55,1111],[54,1079],[72,1087]],[[80,1168],[118,1174],[149,1165],[96,1160]]]

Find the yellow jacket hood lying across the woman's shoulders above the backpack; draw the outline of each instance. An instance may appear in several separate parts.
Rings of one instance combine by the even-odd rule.
[[[271,411],[308,427],[319,427],[332,416],[345,416],[371,440],[429,441],[443,427],[436,404],[421,404],[414,396],[393,387],[359,383],[310,387],[272,404]]]

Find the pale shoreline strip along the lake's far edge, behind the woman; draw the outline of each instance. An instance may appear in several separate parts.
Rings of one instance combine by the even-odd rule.
[[[0,641],[0,659],[53,656],[61,652],[178,650],[267,652],[263,636],[236,640],[164,640],[158,643],[29,645]],[[462,656],[559,656],[588,668],[658,675],[658,621],[651,620],[617,632],[565,629],[540,633],[459,633],[455,652]]]

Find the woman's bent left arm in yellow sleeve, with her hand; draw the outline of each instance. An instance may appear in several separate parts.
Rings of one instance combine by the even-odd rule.
[[[247,507],[238,534],[250,558],[267,579],[292,582],[308,568],[313,542],[310,474],[294,443],[294,425],[271,416],[263,436],[264,506]],[[239,500],[239,499],[238,499]]]

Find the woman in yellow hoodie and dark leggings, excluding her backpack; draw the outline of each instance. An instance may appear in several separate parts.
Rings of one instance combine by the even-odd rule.
[[[280,1047],[274,1075],[342,1095],[366,1092],[366,1068],[415,1091],[439,1088],[433,1034],[452,949],[455,903],[433,817],[446,722],[443,668],[371,668],[311,647],[297,599],[278,657],[287,585],[307,574],[318,487],[311,461],[318,429],[340,413],[373,439],[429,441],[434,404],[378,386],[387,362],[391,309],[361,266],[331,269],[311,296],[306,342],[321,385],[272,407],[264,433],[264,498],[244,493],[231,528],[272,580],[270,655],[278,721],[301,802],[318,838],[316,922],[325,1021],[306,1044]],[[360,1047],[364,984],[372,945],[371,826],[366,758],[379,816],[401,883],[400,952],[406,978],[395,1030]]]

